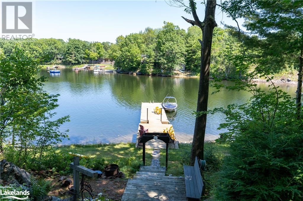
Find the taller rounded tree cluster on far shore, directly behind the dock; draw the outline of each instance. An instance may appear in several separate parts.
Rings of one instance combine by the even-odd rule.
[[[146,28],[144,32],[119,36],[108,53],[115,68],[142,74],[173,75],[184,64],[185,31],[165,22],[160,30]]]

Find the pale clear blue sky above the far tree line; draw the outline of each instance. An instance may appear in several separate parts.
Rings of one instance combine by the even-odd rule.
[[[201,1],[200,1],[201,2]],[[204,19],[204,5],[198,2],[198,15]],[[218,1],[219,2],[219,1]],[[185,2],[188,5],[188,2]],[[169,6],[165,1],[35,1],[35,38],[77,38],[87,41],[115,42],[119,35],[159,28],[169,21],[187,30],[181,16],[192,19],[184,8]],[[218,26],[235,22],[217,8]],[[240,24],[243,20],[239,19]]]

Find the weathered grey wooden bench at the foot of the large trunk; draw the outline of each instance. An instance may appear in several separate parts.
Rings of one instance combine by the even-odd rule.
[[[200,199],[204,183],[201,178],[198,158],[194,166],[183,165],[187,200]]]

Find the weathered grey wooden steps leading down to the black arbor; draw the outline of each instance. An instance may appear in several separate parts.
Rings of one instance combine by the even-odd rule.
[[[121,200],[187,200],[185,180],[165,176],[165,167],[141,166],[136,176],[128,179]]]

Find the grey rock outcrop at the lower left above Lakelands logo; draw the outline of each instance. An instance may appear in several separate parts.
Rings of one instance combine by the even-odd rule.
[[[22,185],[24,183],[28,187],[32,185],[30,180],[31,174],[5,159],[0,161],[0,174],[4,185],[11,183],[17,185]]]

